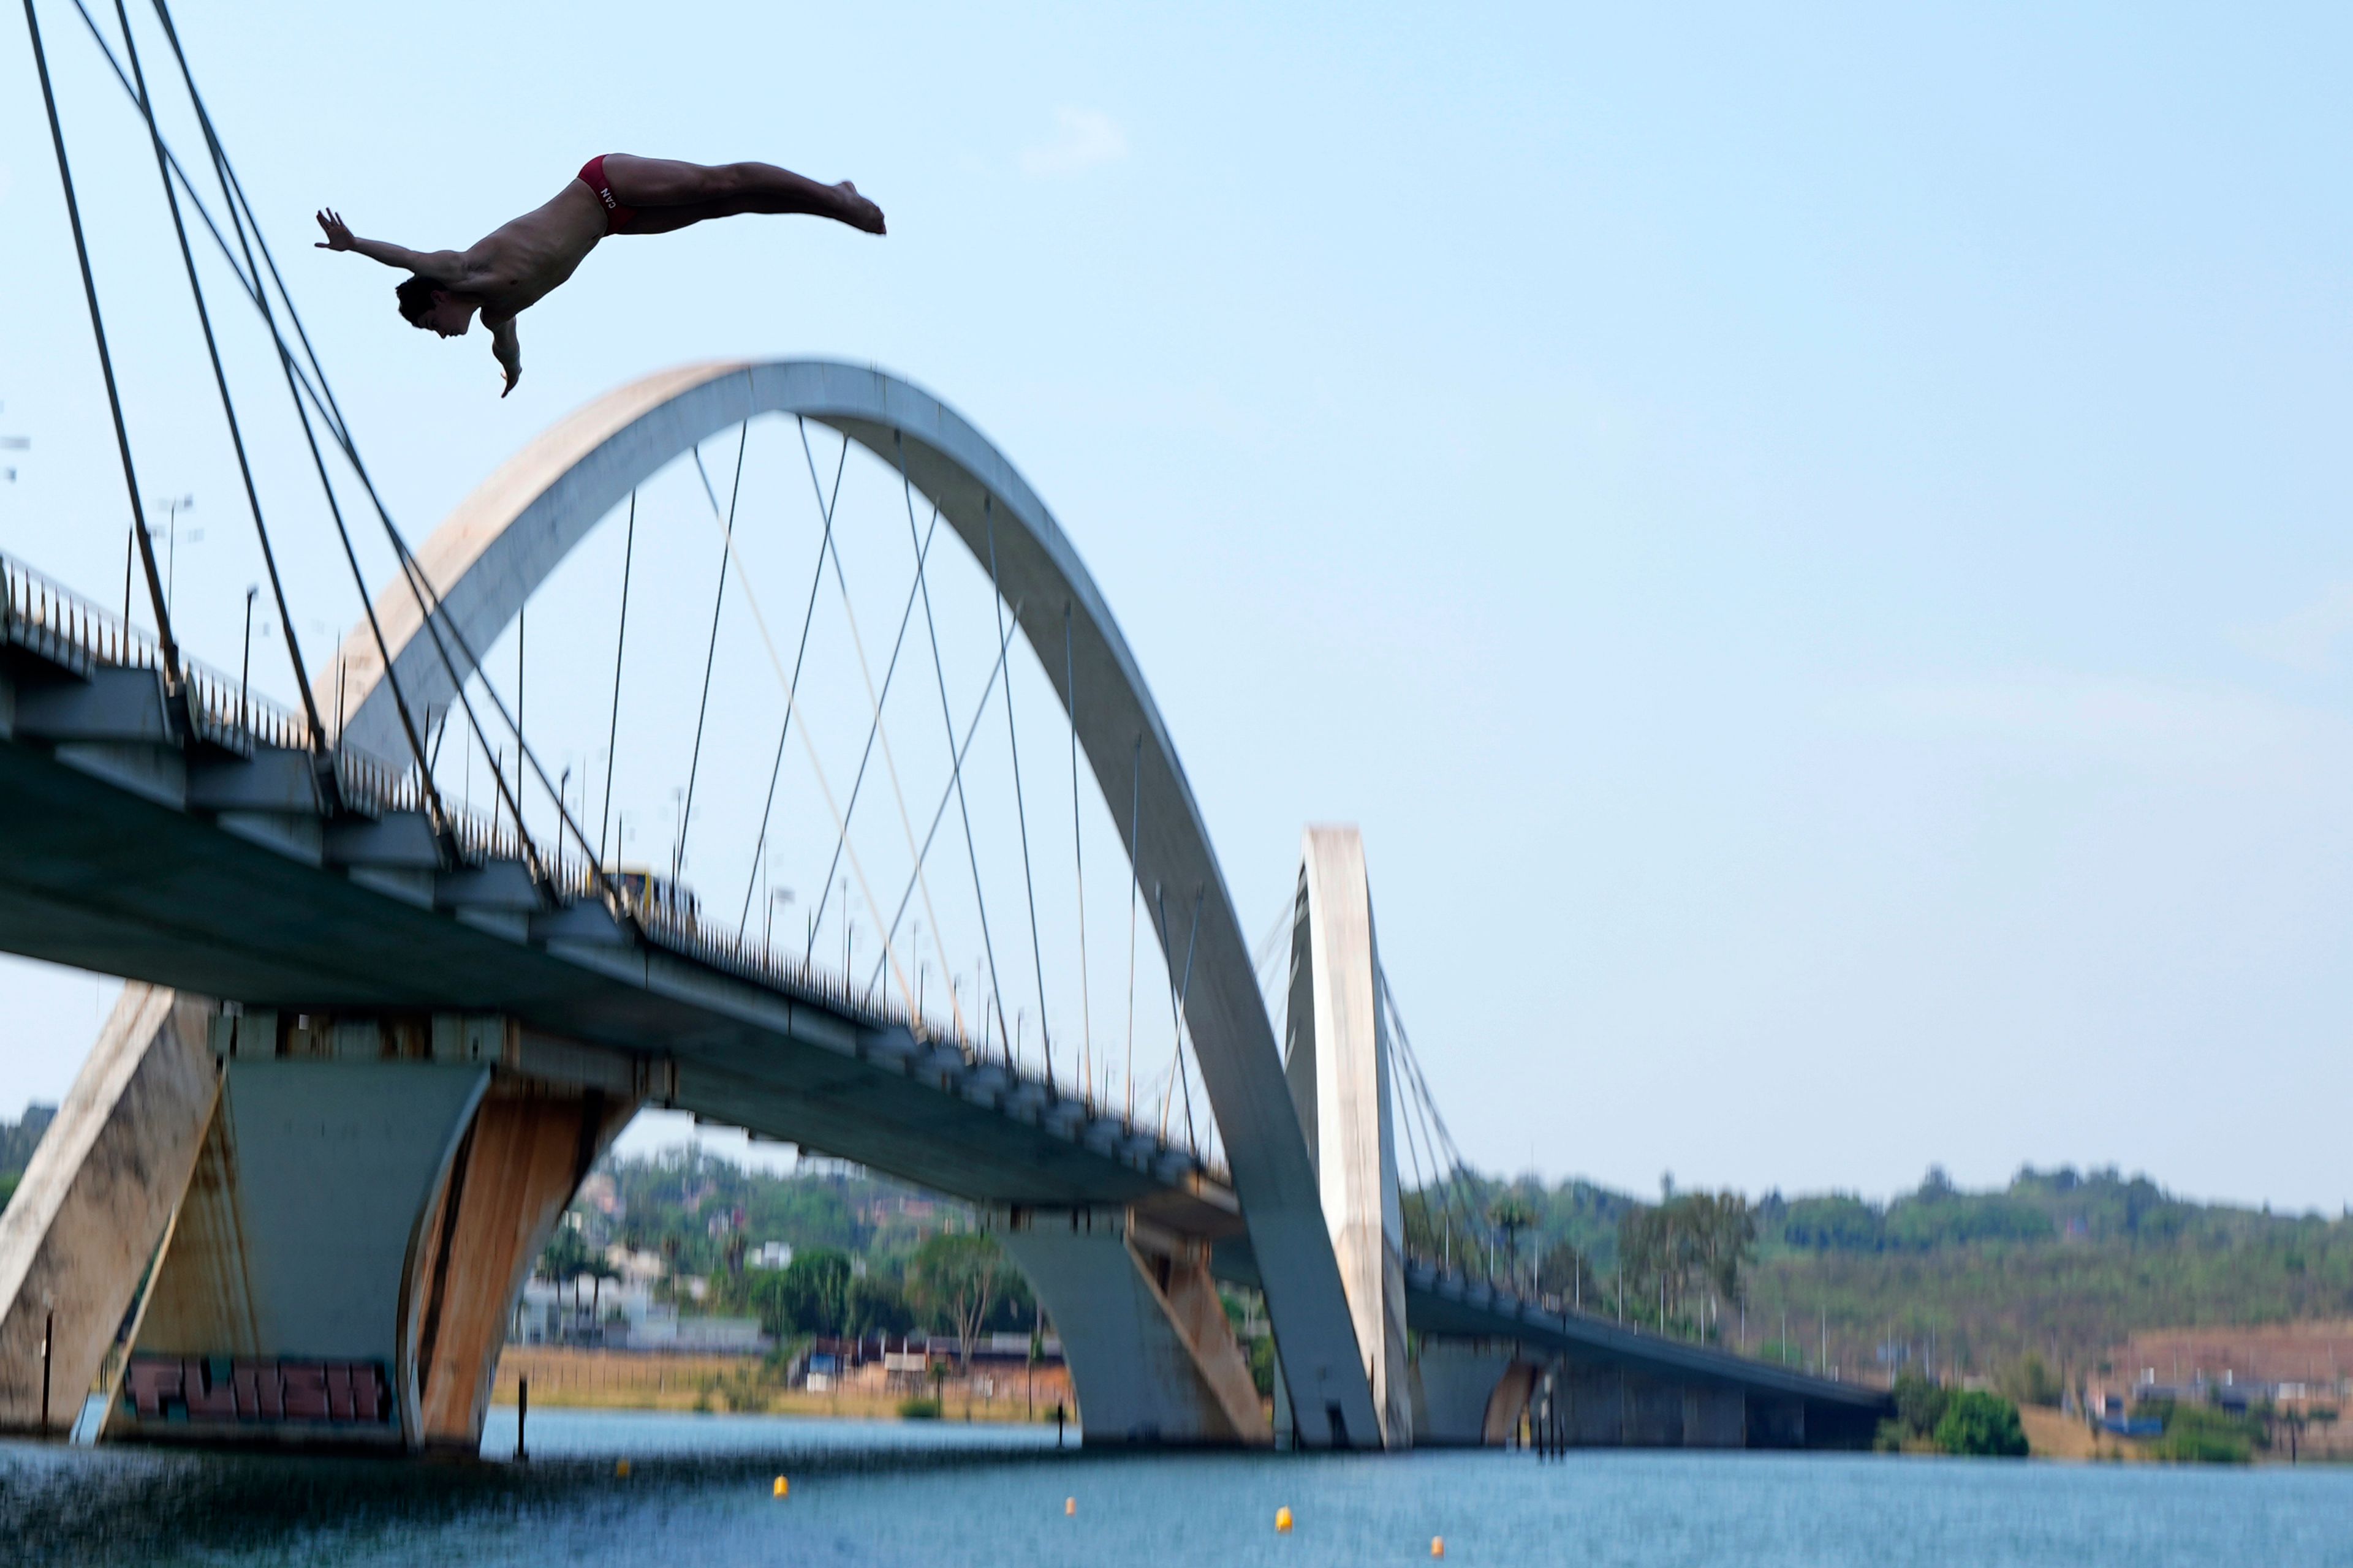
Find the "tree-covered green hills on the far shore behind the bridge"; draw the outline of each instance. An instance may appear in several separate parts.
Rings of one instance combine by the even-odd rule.
[[[0,1204],[54,1114],[31,1105],[0,1121]],[[1586,1180],[1464,1185],[1480,1208],[1506,1194],[1525,1206],[1520,1255],[1574,1248],[1586,1307],[1614,1309],[1621,1227],[1652,1204]],[[896,1279],[925,1237],[969,1225],[960,1204],[854,1166],[769,1175],[699,1152],[605,1159],[574,1211],[595,1246],[659,1248],[680,1272],[720,1276],[729,1253],[784,1241],[838,1248]],[[1849,1378],[1922,1363],[2007,1375],[2035,1354],[2073,1382],[2106,1373],[2137,1333],[2353,1316],[2353,1218],[2198,1204],[2113,1168],[2024,1168],[1993,1192],[1962,1192],[1932,1168],[1887,1204],[1767,1192],[1751,1213],[1746,1302],[1713,1302],[1708,1333]],[[1009,1293],[1007,1321],[1024,1312],[1028,1293]]]

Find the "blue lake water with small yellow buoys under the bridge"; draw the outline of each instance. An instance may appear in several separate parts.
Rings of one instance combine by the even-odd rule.
[[[1035,1427],[572,1410],[532,1415],[529,1465],[513,1443],[513,1410],[482,1465],[0,1443],[0,1563],[1360,1568],[1426,1563],[1445,1535],[1449,1563],[1513,1568],[2353,1568],[2353,1469],[2320,1467],[1136,1458]]]

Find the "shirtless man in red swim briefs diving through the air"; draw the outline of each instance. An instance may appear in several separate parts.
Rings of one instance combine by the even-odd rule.
[[[605,235],[666,235],[704,219],[744,212],[807,212],[882,233],[882,209],[847,179],[819,186],[767,162],[694,165],[671,158],[605,153],[581,165],[555,200],[475,240],[461,252],[412,252],[384,240],[360,240],[339,214],[320,209],[327,230],[318,249],[360,252],[384,266],[407,268],[393,294],[409,327],[445,339],[466,336],[473,313],[489,327],[489,353],[506,369],[506,388],[522,378],[515,315],[536,306],[595,249]]]

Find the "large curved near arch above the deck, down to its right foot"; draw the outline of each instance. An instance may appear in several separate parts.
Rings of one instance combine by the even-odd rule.
[[[1297,1439],[1379,1443],[1384,1422],[1318,1173],[1184,764],[1094,578],[1054,515],[979,430],[922,388],[859,364],[722,360],[656,371],[551,425],[449,512],[416,550],[442,602],[440,618],[466,646],[487,649],[633,487],[696,442],[760,414],[805,416],[894,468],[904,461],[915,489],[984,567],[993,531],[1000,595],[1047,668],[1064,658],[1068,614],[1075,663],[1068,717],[1104,799],[1136,802],[1136,877],[1146,891],[1167,889],[1169,907],[1195,900],[1200,907],[1184,1016],[1266,1288]],[[424,614],[407,583],[376,597],[376,621],[412,712],[449,703],[454,682],[433,637],[419,635]],[[393,691],[365,625],[346,637],[339,668],[341,698],[351,703],[344,741],[400,757]],[[336,696],[325,693],[322,708],[334,710]]]

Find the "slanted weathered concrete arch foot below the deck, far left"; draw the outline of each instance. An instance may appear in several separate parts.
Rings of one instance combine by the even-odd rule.
[[[129,983],[0,1213],[0,1429],[68,1432],[205,1143],[212,1006]],[[42,1366],[42,1340],[49,1363]]]

